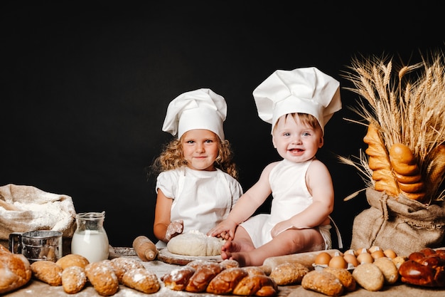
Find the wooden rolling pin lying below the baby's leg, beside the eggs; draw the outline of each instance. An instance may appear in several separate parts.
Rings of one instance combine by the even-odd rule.
[[[323,250],[326,251],[331,256],[335,256],[336,253],[341,253],[338,249],[326,249]],[[272,269],[277,267],[279,264],[283,264],[286,262],[291,263],[299,263],[306,266],[309,270],[313,270],[313,262],[316,259],[316,256],[320,254],[322,251],[308,251],[306,253],[299,253],[299,254],[291,254],[291,255],[284,255],[284,256],[276,256],[276,257],[270,257],[264,260],[262,266],[259,266],[260,269],[262,269],[267,275],[270,274]]]

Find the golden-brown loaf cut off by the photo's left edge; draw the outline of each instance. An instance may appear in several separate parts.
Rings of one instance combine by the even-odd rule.
[[[32,271],[28,259],[22,254],[12,254],[0,244],[0,294],[26,285]]]

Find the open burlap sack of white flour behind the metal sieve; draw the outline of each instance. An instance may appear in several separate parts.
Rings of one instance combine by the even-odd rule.
[[[61,231],[64,241],[72,238],[75,231],[73,199],[32,186],[6,184],[0,187],[0,244],[8,247],[12,232],[35,230]]]

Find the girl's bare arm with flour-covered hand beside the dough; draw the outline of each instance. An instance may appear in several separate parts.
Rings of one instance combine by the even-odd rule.
[[[170,212],[173,199],[166,197],[161,189],[158,189],[156,198],[156,209],[154,213],[153,231],[157,239],[168,242],[171,237],[181,234],[183,231],[183,222],[171,222]]]

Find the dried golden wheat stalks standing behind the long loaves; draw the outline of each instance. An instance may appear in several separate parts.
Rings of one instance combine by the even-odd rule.
[[[350,72],[343,77],[354,87],[345,89],[360,95],[358,107],[350,110],[365,122],[380,127],[388,151],[395,143],[407,145],[417,159],[422,176],[428,174],[429,163],[434,161],[428,158],[429,152],[445,143],[444,53],[436,51],[431,57],[422,56],[422,62],[401,66],[398,71],[392,58],[375,56],[353,58],[348,68]],[[360,153],[360,162],[339,159],[357,168],[367,186],[372,184],[372,170],[367,166],[365,154]],[[439,185],[429,186],[438,190]],[[432,201],[444,199],[443,192],[431,195],[435,195]]]

